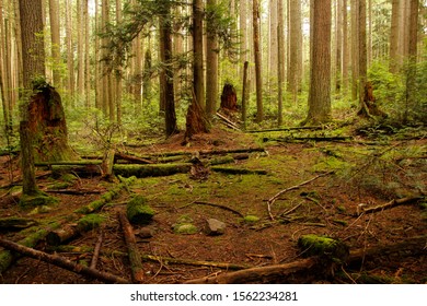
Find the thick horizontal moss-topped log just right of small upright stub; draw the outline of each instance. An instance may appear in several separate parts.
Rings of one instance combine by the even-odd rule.
[[[169,176],[180,173],[189,173],[191,163],[155,164],[155,165],[114,165],[114,174],[124,177],[136,176],[138,178]]]

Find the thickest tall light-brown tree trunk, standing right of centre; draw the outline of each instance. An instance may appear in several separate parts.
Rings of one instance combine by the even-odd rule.
[[[331,120],[331,0],[313,1],[309,114],[304,123]]]

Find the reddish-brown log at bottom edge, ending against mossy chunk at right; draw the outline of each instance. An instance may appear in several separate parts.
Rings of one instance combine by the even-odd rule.
[[[215,276],[205,276],[186,281],[186,284],[243,284],[243,283],[268,283],[292,282],[291,276],[320,268],[315,258],[307,258],[285,264],[257,267],[229,273],[218,273]]]

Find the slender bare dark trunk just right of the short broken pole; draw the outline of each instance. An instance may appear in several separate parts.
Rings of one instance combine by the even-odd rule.
[[[253,0],[253,34],[254,34],[254,57],[255,57],[255,80],[256,80],[256,122],[264,119],[263,111],[263,75],[259,42],[259,1]]]

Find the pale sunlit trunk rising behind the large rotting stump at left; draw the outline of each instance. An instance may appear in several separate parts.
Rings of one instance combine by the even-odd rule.
[[[59,37],[59,1],[49,0],[49,16],[50,16],[50,38],[51,38],[51,58],[53,58],[53,73],[54,85],[59,86],[60,78],[60,37]]]

